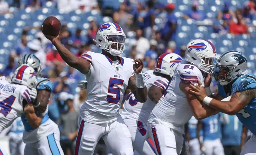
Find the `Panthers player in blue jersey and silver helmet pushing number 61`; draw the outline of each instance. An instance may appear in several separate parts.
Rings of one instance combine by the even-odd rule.
[[[197,96],[202,103],[214,108],[216,112],[237,115],[247,129],[251,130],[252,137],[246,142],[241,155],[256,154],[256,76],[248,74],[247,59],[237,51],[223,53],[217,63],[215,79],[224,86],[227,98],[219,101],[206,95],[203,87],[192,83],[191,93]]]

